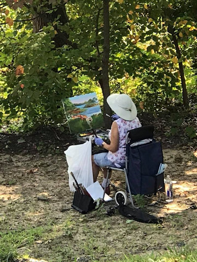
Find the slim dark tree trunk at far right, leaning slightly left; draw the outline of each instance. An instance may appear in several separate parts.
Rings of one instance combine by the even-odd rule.
[[[178,40],[177,37],[174,33],[174,29],[171,29],[172,33],[172,40],[174,42],[175,48],[176,48],[176,54],[177,58],[181,58],[181,51],[178,45]],[[179,72],[181,75],[181,85],[182,85],[182,96],[183,96],[183,104],[186,108],[189,107],[189,102],[188,102],[188,92],[187,92],[187,87],[186,87],[186,82],[185,82],[185,75],[184,75],[184,68],[183,68],[183,63],[179,62]]]

